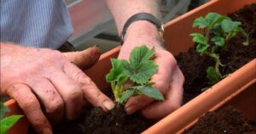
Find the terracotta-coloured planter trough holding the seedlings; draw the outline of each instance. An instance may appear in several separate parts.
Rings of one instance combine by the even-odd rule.
[[[243,7],[247,3],[256,3],[256,0],[212,0],[170,21],[166,24],[165,30],[167,50],[173,54],[177,54],[187,51],[189,47],[193,47],[193,42],[189,34],[198,31],[191,27],[195,18],[201,15],[204,16],[208,12],[228,14]],[[105,75],[111,69],[110,58],[116,58],[118,53],[119,47],[113,48],[108,53],[102,54],[99,62],[90,70],[85,71],[100,89],[106,89],[108,87],[108,83],[105,81]],[[241,67],[241,69],[227,76],[223,81],[218,82],[206,92],[201,93],[201,95],[186,103],[180,109],[177,109],[154,126],[148,128],[148,130],[143,131],[143,133],[163,134],[181,132],[183,128],[191,126],[192,122],[195,122],[201,114],[204,114],[208,110],[218,109],[229,100],[238,109],[244,109],[250,119],[256,120],[256,107],[253,105],[256,103],[255,83],[256,59],[253,59],[250,63]],[[244,105],[243,102],[246,102],[247,105]],[[11,114],[20,114],[20,109],[14,100],[10,100],[5,104],[11,108]],[[250,110],[246,110],[246,108],[250,108]],[[9,133],[26,134],[27,128],[28,123],[23,119]],[[15,129],[20,130],[17,132]]]

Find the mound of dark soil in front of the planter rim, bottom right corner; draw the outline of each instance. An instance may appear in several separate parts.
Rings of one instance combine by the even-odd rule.
[[[241,111],[228,106],[216,112],[207,112],[199,118],[195,126],[183,132],[184,134],[256,134],[252,122],[247,120]]]

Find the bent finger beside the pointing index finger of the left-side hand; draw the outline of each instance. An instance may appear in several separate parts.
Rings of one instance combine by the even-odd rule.
[[[79,84],[73,81],[62,70],[54,70],[53,72],[53,74],[48,76],[48,79],[53,83],[56,90],[61,94],[62,100],[65,102],[66,119],[73,120],[82,111],[83,91],[79,87]]]

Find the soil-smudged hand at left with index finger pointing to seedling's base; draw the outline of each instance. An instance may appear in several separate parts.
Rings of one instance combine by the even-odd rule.
[[[113,101],[75,65],[86,68],[99,56],[98,47],[63,54],[1,42],[0,95],[15,98],[38,133],[51,133],[49,122],[76,118],[85,100],[112,109]]]

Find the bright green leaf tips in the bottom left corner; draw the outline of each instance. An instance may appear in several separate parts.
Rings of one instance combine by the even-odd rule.
[[[9,129],[22,117],[22,115],[11,115],[6,117],[8,111],[9,109],[0,102],[0,134],[6,134],[7,131],[9,131]]]

